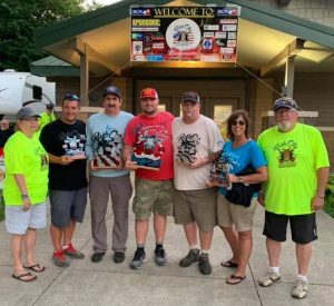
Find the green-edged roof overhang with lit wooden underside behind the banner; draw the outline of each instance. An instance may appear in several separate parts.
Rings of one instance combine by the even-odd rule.
[[[150,1],[154,6],[206,6],[210,1]],[[95,76],[124,75],[140,68],[232,68],[230,63],[145,62],[130,65],[130,6],[143,1],[120,1],[36,33],[37,43],[50,55],[80,66],[80,55],[89,58]],[[295,57],[296,71],[334,72],[334,29],[289,16],[246,0],[226,0],[219,6],[242,8],[238,28],[238,67],[266,76]]]

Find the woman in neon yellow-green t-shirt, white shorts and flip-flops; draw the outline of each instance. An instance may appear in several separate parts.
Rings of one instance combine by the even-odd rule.
[[[38,129],[39,115],[31,108],[18,111],[18,131],[4,146],[6,228],[11,234],[13,259],[12,277],[32,282],[45,267],[35,258],[37,228],[47,224],[46,198],[48,188],[48,155],[33,136]],[[21,260],[21,246],[26,249],[26,263]],[[28,272],[31,270],[31,272]]]

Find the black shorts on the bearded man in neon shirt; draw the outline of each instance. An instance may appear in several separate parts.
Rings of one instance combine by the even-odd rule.
[[[266,211],[263,235],[275,241],[285,241],[288,220],[294,243],[306,245],[317,239],[315,213],[287,216]]]

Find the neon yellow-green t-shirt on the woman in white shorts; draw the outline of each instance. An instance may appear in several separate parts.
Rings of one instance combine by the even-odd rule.
[[[4,204],[22,205],[21,191],[14,175],[23,175],[31,204],[46,201],[48,191],[49,160],[37,137],[28,138],[17,131],[4,146],[6,180]]]

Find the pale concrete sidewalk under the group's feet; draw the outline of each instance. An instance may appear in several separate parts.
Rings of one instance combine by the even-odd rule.
[[[303,300],[289,295],[296,277],[294,245],[291,238],[282,250],[282,279],[263,288],[257,279],[267,269],[265,238],[262,235],[262,207],[257,208],[254,226],[254,249],[247,268],[247,278],[237,286],[225,284],[233,269],[219,266],[230,251],[219,228],[216,228],[210,261],[213,274],[203,276],[198,266],[180,268],[179,259],[188,251],[181,226],[169,219],[165,248],[168,264],[157,267],[153,263],[155,240],[153,228],[146,244],[147,261],[141,270],[131,270],[129,263],[135,251],[134,217],[129,227],[126,261],[116,265],[110,251],[101,263],[90,261],[90,211],[87,207],[82,225],[78,225],[75,246],[85,259],[75,259],[67,268],[56,267],[51,260],[51,241],[48,228],[38,233],[37,258],[46,265],[45,273],[33,283],[13,279],[10,256],[10,236],[4,221],[0,223],[0,305],[333,305],[334,303],[334,220],[324,213],[317,214],[320,239],[314,243],[314,255],[308,274],[310,294]],[[48,218],[48,221],[50,219]],[[112,215],[108,213],[110,240]],[[289,236],[288,236],[289,237]],[[108,241],[109,241],[108,240]],[[110,243],[109,243],[110,246]]]

